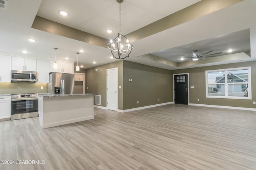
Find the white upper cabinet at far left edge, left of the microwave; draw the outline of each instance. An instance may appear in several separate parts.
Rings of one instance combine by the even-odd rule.
[[[11,82],[11,56],[0,55],[0,82]]]

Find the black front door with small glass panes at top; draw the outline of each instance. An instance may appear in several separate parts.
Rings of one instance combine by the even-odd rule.
[[[174,102],[188,104],[188,74],[174,75]]]

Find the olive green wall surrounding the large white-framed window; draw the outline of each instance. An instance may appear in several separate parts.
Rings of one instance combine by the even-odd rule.
[[[206,85],[205,85],[205,71],[217,70],[224,68],[238,68],[251,66],[251,79],[252,79],[252,100],[240,99],[219,99],[219,98],[206,98]],[[172,70],[173,74],[189,73],[189,86],[194,86],[194,89],[189,88],[189,103],[191,104],[207,104],[217,106],[232,106],[232,107],[248,107],[256,108],[253,101],[256,101],[256,61],[222,64],[216,66],[205,66],[198,68],[189,68],[181,70]],[[199,101],[197,99],[199,98]]]

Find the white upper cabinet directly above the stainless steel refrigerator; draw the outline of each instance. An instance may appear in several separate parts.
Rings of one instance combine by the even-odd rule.
[[[74,63],[67,63],[63,61],[56,61],[58,64],[58,69],[53,68],[54,60],[51,61],[50,72],[61,72],[61,73],[69,73],[74,74]]]

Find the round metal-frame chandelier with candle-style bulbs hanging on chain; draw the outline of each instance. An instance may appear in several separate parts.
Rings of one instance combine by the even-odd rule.
[[[132,52],[133,45],[129,42],[124,35],[121,33],[121,3],[124,0],[116,0],[119,3],[119,33],[115,39],[111,39],[110,43],[107,44],[108,49],[110,49],[112,56],[116,59],[125,59],[129,57]]]

